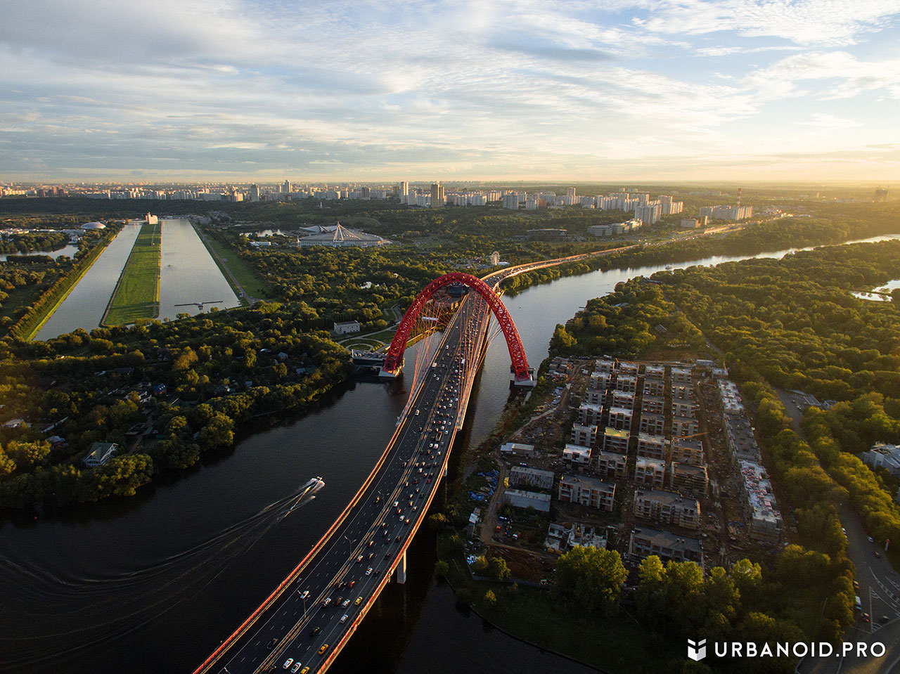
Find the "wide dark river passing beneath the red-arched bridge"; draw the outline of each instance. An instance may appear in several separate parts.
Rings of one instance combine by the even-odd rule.
[[[743,258],[673,266],[736,259]],[[661,269],[570,276],[506,298],[529,360],[536,365],[545,358],[555,325],[586,301]],[[408,364],[429,341],[408,349]],[[133,499],[0,526],[0,671],[191,672],[346,506],[383,452],[408,396],[402,380],[358,382],[305,417],[271,427],[264,421],[233,451],[205,458]],[[499,337],[476,380],[457,450],[487,436],[508,399],[509,355]],[[451,472],[459,454],[451,457]],[[282,499],[313,475],[324,478],[325,488],[284,517]],[[410,551],[407,584],[388,585],[331,671],[415,674],[427,666],[436,674],[518,674],[525,661],[529,671],[588,671],[455,607],[452,592],[433,580],[432,536],[423,527]]]

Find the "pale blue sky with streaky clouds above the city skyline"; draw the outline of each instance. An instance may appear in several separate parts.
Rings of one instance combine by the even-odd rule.
[[[900,180],[897,0],[14,0],[0,181]]]

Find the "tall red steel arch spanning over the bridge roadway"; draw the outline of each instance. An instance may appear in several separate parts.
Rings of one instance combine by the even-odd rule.
[[[435,292],[451,283],[464,283],[472,288],[473,291],[478,292],[488,302],[488,306],[491,307],[497,322],[500,323],[503,337],[506,337],[507,346],[509,347],[509,358],[516,373],[516,381],[521,382],[528,379],[530,375],[528,374],[528,360],[525,357],[525,347],[522,346],[522,340],[518,337],[516,324],[512,322],[509,311],[503,306],[503,302],[500,301],[500,295],[494,292],[491,286],[484,283],[482,279],[463,272],[444,274],[428,283],[425,290],[419,292],[419,295],[410,304],[410,308],[403,314],[403,319],[397,328],[391,347],[388,349],[388,355],[384,359],[383,370],[389,373],[397,371],[399,365],[403,362],[403,351],[406,349],[407,340],[410,338],[410,330],[416,324],[416,319],[419,318],[425,303],[431,299]]]

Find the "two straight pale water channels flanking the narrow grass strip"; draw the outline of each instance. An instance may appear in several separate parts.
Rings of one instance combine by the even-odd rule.
[[[212,307],[237,307],[238,297],[221,274],[188,220],[160,220],[162,250],[159,265],[159,319],[175,319],[179,313],[197,314],[196,303]],[[140,224],[128,224],[96,259],[94,265],[62,301],[38,331],[35,339],[52,339],[77,328],[100,325],[122,267],[138,238]],[[175,306],[193,302],[188,306]]]

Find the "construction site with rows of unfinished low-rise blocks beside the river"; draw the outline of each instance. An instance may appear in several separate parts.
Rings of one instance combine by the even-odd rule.
[[[577,545],[705,568],[777,552],[781,516],[740,392],[711,361],[554,358],[554,388],[466,481],[471,556],[551,580]]]

